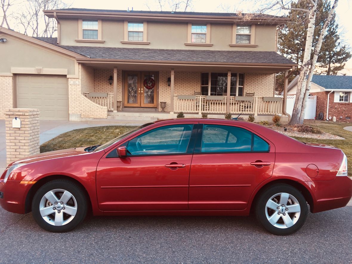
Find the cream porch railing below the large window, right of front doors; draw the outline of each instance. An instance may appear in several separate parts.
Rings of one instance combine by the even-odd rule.
[[[174,95],[174,111],[184,113],[226,113],[227,96]],[[281,114],[282,98],[230,96],[230,112]]]

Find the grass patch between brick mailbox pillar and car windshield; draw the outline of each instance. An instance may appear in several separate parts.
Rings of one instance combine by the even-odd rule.
[[[40,145],[40,152],[100,145],[133,128],[135,126],[98,126],[75,129]]]

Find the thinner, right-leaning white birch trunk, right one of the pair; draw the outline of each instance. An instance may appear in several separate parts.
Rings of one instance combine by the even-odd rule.
[[[303,98],[303,103],[302,103],[302,107],[301,107],[301,114],[300,114],[300,118],[298,120],[299,124],[303,124],[304,121],[304,112],[306,111],[306,105],[307,105],[307,99],[309,96],[309,91],[310,91],[310,84],[312,82],[312,78],[313,78],[313,74],[314,74],[314,70],[315,70],[315,64],[316,61],[318,60],[318,56],[319,56],[319,52],[320,52],[320,48],[321,48],[321,44],[323,43],[323,39],[324,39],[324,35],[326,32],[326,29],[328,27],[328,25],[330,24],[330,21],[332,19],[332,16],[335,12],[335,9],[337,7],[339,0],[335,0],[334,4],[331,7],[330,13],[328,15],[328,18],[326,19],[324,26],[321,29],[321,33],[319,36],[319,40],[318,43],[315,46],[314,49],[314,55],[313,55],[313,60],[312,60],[312,65],[310,66],[310,70],[309,70],[309,75],[308,75],[308,80],[307,80],[307,88],[306,91],[304,92],[304,98]]]

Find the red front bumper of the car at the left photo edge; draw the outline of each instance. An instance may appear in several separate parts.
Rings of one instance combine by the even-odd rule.
[[[25,214],[25,200],[32,184],[20,184],[19,181],[0,180],[0,191],[3,198],[0,199],[0,206],[6,211]]]

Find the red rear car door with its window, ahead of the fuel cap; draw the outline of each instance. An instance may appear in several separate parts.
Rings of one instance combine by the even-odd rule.
[[[189,209],[245,209],[274,163],[275,146],[267,139],[238,125],[205,122],[192,159]]]

